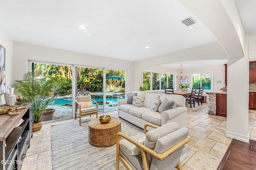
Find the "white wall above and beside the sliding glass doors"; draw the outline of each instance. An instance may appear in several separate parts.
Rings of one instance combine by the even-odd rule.
[[[27,71],[28,60],[54,62],[62,64],[78,64],[81,66],[107,67],[123,69],[128,72],[128,92],[132,92],[133,87],[133,62],[53,49],[27,43],[15,42],[13,44],[13,80],[21,80]]]

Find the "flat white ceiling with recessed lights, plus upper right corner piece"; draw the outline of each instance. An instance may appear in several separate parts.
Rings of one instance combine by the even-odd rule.
[[[246,11],[242,20],[255,9],[247,10],[255,7],[255,0],[235,1],[240,14]],[[0,4],[0,28],[12,40],[68,51],[138,61],[216,41],[199,20],[189,27],[180,23],[192,14],[176,0],[1,0]],[[252,22],[244,26],[255,34]]]

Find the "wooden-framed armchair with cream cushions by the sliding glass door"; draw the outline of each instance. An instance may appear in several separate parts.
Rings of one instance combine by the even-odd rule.
[[[98,103],[92,100],[92,96],[76,96],[76,115],[79,115],[79,125],[81,126],[81,117],[96,114],[96,118],[98,118]],[[96,107],[92,105],[92,102],[96,104]]]

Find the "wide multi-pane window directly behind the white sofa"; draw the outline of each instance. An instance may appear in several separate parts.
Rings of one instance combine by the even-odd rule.
[[[173,74],[143,72],[144,90],[164,90],[166,87],[173,88]]]

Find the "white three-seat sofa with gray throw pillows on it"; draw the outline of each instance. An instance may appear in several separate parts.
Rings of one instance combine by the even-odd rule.
[[[184,96],[176,94],[152,94],[144,91],[133,91],[137,96],[145,98],[143,107],[136,107],[128,104],[127,99],[120,99],[117,101],[118,116],[129,121],[130,123],[143,129],[146,123],[151,123],[157,126],[162,126],[169,122],[177,122],[180,128],[186,127],[186,99]],[[164,99],[174,100],[172,109],[163,111],[162,113],[153,112],[151,104],[154,100]]]

